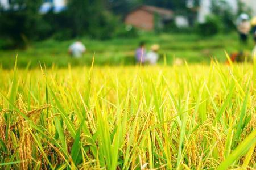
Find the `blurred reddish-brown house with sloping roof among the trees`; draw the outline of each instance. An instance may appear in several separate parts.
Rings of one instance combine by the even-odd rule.
[[[142,5],[126,15],[125,24],[133,25],[146,31],[152,31],[163,28],[164,25],[173,19],[174,13],[171,10]]]

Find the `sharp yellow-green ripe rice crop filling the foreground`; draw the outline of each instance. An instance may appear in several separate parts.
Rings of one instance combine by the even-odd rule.
[[[0,77],[0,169],[256,169],[256,65]]]

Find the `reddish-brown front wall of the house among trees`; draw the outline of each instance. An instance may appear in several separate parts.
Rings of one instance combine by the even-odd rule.
[[[154,29],[154,15],[144,10],[136,10],[127,15],[125,23],[147,31]]]

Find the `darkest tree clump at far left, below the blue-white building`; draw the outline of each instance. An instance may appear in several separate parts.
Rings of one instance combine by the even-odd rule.
[[[26,47],[39,39],[42,25],[38,13],[42,0],[17,0],[8,10],[0,10],[0,35],[10,40],[8,47]]]

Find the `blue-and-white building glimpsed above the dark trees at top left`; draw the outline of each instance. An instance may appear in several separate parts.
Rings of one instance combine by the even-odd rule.
[[[0,6],[6,10],[12,5],[12,0],[0,0]],[[45,13],[51,9],[55,12],[60,12],[65,9],[67,0],[43,0],[43,4],[40,7],[40,12]]]

